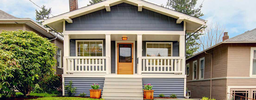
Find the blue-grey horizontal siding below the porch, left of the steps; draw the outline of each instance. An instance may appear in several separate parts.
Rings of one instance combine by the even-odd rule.
[[[87,94],[86,96],[90,96],[90,89],[92,84],[100,84],[100,88],[103,90],[104,80],[105,78],[65,78],[65,85],[69,84],[69,81],[73,82],[72,87],[77,87],[75,96],[79,96],[80,93]],[[67,94],[67,90],[65,90],[65,94]]]

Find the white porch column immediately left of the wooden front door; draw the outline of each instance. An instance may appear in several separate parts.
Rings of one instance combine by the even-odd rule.
[[[108,68],[106,68],[106,74],[111,74],[111,37],[110,37],[110,34],[106,34],[106,57],[109,57],[108,65],[106,66],[106,67],[108,67]]]

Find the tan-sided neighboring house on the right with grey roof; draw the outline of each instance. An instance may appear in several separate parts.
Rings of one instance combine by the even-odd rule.
[[[227,94],[231,93],[256,99],[256,29],[230,39],[225,32],[223,40],[187,58],[187,88],[191,98],[231,100]],[[240,97],[235,96],[234,100]]]

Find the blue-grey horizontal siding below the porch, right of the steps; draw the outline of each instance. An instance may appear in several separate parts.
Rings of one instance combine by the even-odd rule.
[[[154,97],[164,94],[169,97],[176,94],[178,98],[184,97],[184,78],[142,78],[142,85],[152,84]]]

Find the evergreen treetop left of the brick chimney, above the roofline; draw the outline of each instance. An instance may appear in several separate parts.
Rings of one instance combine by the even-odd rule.
[[[39,10],[39,12],[35,10],[35,20],[42,25],[42,20],[49,18],[52,8],[47,9],[44,5],[41,8],[42,10]]]

